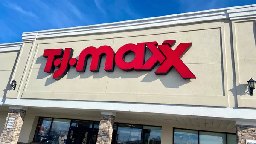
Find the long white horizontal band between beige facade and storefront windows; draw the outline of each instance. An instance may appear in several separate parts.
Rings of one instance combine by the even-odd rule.
[[[3,105],[19,107],[48,107],[88,109],[110,112],[140,112],[154,115],[178,115],[187,117],[216,118],[223,120],[256,120],[256,109],[233,107],[202,107],[167,104],[140,104],[99,101],[66,101],[43,99],[0,98]],[[0,103],[1,104],[1,103]]]

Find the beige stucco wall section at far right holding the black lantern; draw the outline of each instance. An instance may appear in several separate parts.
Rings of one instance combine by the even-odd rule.
[[[256,107],[254,95],[249,95],[247,81],[256,80],[256,19],[233,21],[236,89],[239,107]]]

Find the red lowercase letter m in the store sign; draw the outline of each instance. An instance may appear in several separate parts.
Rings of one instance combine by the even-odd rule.
[[[114,51],[110,46],[100,46],[98,49],[93,46],[85,48],[78,57],[76,71],[85,72],[87,60],[90,56],[92,56],[90,71],[99,72],[100,61],[103,55],[106,55],[104,70],[107,72],[113,71]]]

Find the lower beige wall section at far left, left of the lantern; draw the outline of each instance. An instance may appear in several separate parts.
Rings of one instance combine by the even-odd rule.
[[[11,89],[9,81],[12,81],[18,55],[19,51],[0,52],[0,98],[3,98],[6,92]]]

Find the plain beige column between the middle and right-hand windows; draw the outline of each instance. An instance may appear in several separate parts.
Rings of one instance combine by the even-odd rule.
[[[162,126],[161,144],[172,144],[173,127],[171,125]]]

